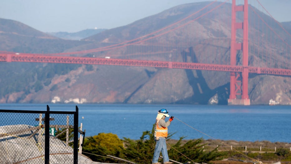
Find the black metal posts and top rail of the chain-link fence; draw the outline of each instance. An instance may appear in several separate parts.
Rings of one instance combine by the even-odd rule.
[[[79,109],[76,105],[76,111],[69,112],[69,111],[50,111],[50,107],[47,105],[47,111],[37,111],[37,110],[0,110],[0,112],[7,112],[7,113],[42,113],[45,114],[45,127],[50,127],[50,114],[70,114],[74,115],[74,141],[73,141],[73,164],[78,163],[78,115]],[[49,128],[45,128],[45,164],[49,164],[50,158],[50,131]]]

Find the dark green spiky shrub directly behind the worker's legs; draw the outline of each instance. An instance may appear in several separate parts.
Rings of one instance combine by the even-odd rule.
[[[151,162],[155,149],[154,131],[155,125],[153,125],[151,131],[144,131],[140,139],[137,141],[133,141],[129,138],[124,138],[126,147],[126,149],[124,150],[124,155],[127,160],[136,163]],[[170,139],[172,135],[173,134],[168,136],[167,141]],[[168,155],[170,159],[186,163],[187,161],[190,161],[188,159],[190,158],[198,163],[201,162],[207,163],[212,160],[221,159],[227,154],[227,152],[225,151],[219,152],[217,147],[212,151],[204,151],[203,145],[201,144],[201,142],[203,141],[202,138],[187,141],[187,143],[183,145],[181,144],[182,139],[184,139],[184,137],[181,137],[180,140],[173,146],[169,146],[168,144],[169,146],[168,148],[170,148],[168,150]],[[187,156],[188,158],[181,155],[181,153]]]

